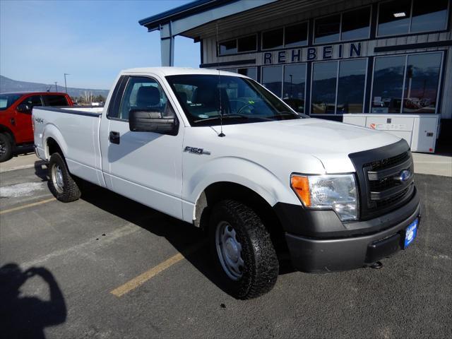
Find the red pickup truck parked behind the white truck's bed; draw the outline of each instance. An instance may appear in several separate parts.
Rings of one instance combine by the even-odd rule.
[[[66,93],[1,93],[0,162],[11,159],[16,148],[32,145],[34,106],[73,106],[73,102]]]

